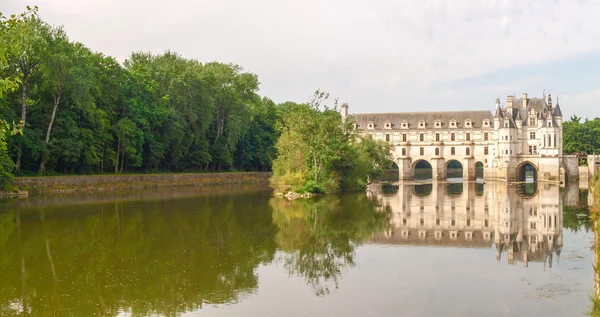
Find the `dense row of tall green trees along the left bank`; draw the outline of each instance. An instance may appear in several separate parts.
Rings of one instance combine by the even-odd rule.
[[[281,106],[257,75],[170,51],[121,64],[29,9],[0,24],[3,171],[270,170]]]

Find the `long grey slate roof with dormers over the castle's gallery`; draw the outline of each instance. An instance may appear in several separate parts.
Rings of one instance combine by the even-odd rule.
[[[408,123],[409,129],[416,129],[419,121],[424,120],[426,128],[433,128],[436,120],[442,122],[442,128],[448,128],[451,120],[456,120],[457,128],[464,128],[465,121],[471,120],[473,128],[481,128],[483,120],[488,119],[493,123],[492,113],[489,110],[475,111],[438,111],[438,112],[397,112],[397,113],[356,113],[352,114],[358,129],[367,129],[369,122],[373,122],[375,130],[383,130],[385,123],[390,122],[392,129],[400,129],[402,122]]]

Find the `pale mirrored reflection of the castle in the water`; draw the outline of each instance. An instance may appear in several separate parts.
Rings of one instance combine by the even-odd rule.
[[[563,204],[576,204],[578,188],[549,184],[433,183],[374,187],[393,217],[372,243],[496,248],[509,264],[552,267],[563,245]]]

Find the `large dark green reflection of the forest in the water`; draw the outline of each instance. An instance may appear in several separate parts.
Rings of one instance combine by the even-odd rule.
[[[1,211],[0,316],[175,316],[236,302],[274,258],[268,199]]]

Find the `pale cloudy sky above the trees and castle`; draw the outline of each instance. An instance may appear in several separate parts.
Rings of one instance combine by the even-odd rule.
[[[172,50],[235,63],[275,102],[317,89],[351,113],[495,108],[558,97],[600,117],[600,0],[0,0],[39,6],[71,40],[124,61]]]

